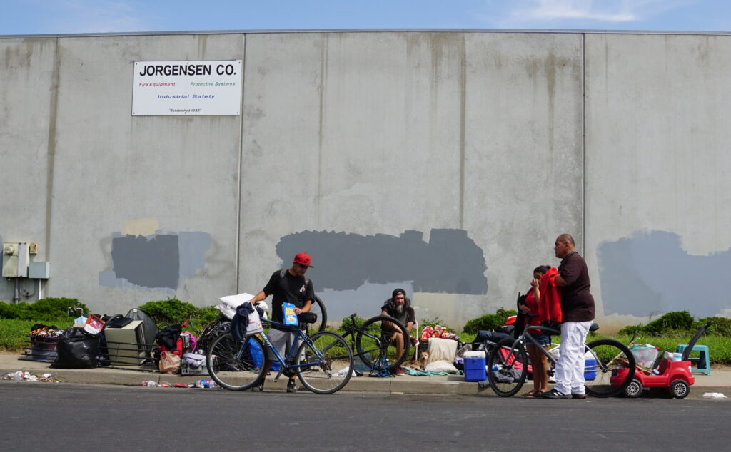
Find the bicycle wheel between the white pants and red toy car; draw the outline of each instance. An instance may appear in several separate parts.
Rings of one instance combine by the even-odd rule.
[[[622,342],[599,339],[586,344],[586,351],[586,394],[592,397],[616,396],[624,392],[635,378],[635,355]],[[621,368],[629,372],[616,372]]]

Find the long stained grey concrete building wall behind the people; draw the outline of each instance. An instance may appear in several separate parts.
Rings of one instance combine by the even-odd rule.
[[[613,323],[721,313],[729,39],[0,39],[0,238],[38,242],[44,295],[97,312],[254,293],[304,250],[331,319],[401,286],[460,328],[569,232]],[[132,117],[135,61],[223,59],[244,61],[242,115]]]

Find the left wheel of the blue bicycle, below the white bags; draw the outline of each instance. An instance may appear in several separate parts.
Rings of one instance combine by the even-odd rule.
[[[231,391],[244,391],[263,379],[268,362],[262,340],[257,335],[240,341],[230,332],[219,334],[205,354],[211,378],[221,388]]]

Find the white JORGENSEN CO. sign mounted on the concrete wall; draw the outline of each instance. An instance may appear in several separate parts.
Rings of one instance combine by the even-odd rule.
[[[137,61],[132,116],[238,115],[241,60]]]

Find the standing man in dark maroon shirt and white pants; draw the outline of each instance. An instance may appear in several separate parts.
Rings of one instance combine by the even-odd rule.
[[[594,323],[594,297],[589,288],[586,261],[576,252],[574,238],[561,234],[553,247],[558,266],[556,286],[561,287],[561,349],[556,362],[556,386],[541,394],[546,399],[586,399],[584,341]]]

